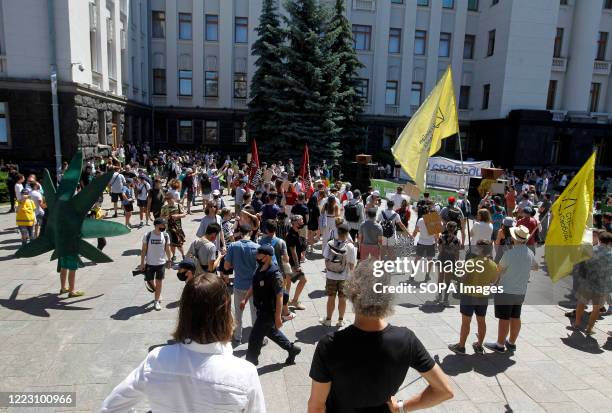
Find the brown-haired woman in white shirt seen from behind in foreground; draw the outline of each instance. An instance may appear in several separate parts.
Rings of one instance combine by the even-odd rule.
[[[192,278],[181,295],[176,344],[157,347],[104,400],[101,412],[265,413],[253,364],[232,354],[231,296],[215,274]]]

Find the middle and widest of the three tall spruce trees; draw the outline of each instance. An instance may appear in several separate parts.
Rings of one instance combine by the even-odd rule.
[[[278,135],[291,149],[278,156],[299,156],[307,143],[312,159],[338,159],[339,59],[329,53],[325,35],[329,13],[317,0],[291,0],[285,7],[285,105],[279,111],[284,126]]]

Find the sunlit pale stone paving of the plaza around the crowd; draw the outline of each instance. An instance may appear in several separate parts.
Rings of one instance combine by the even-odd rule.
[[[74,391],[77,407],[73,411],[96,410],[149,349],[169,341],[182,283],[174,271],[168,271],[163,309],[153,310],[152,295],[145,290],[142,276],[131,273],[139,263],[141,239],[151,228],[144,227],[108,239],[104,252],[113,263],[87,265],[77,272],[77,289],[86,296],[58,297],[56,262],[49,261],[49,254],[20,260],[12,257],[20,241],[15,215],[5,214],[6,209],[0,211],[0,391]],[[202,216],[201,207],[195,211],[183,220],[188,241],[195,236]],[[123,217],[115,220],[123,222]],[[303,349],[297,363],[285,366],[286,353],[273,343],[264,347],[260,357],[261,383],[272,413],[306,411],[310,361],[318,339],[333,330],[318,323],[326,302],[320,249],[310,258],[304,265],[309,280],[302,296],[306,310],[298,311],[283,327]],[[556,287],[555,297],[562,297],[567,281]],[[538,271],[529,288],[544,296],[552,291],[550,285]],[[431,411],[612,411],[612,339],[606,334],[612,330],[612,316],[601,319],[596,334],[585,338],[566,329],[565,309],[552,300],[550,305],[526,305],[516,353],[473,355],[468,346],[468,355],[458,356],[447,349],[459,336],[458,306],[440,308],[414,300],[398,298],[390,321],[412,329],[451,377],[454,399]],[[490,307],[488,339],[497,333],[492,313]],[[352,320],[352,314],[347,319]],[[248,315],[246,320],[250,320]],[[474,322],[469,342],[475,327]],[[246,344],[235,350],[241,357],[245,352]],[[399,395],[406,398],[424,386],[418,373],[410,370]],[[70,409],[61,411],[66,410]],[[139,411],[147,411],[147,406]]]

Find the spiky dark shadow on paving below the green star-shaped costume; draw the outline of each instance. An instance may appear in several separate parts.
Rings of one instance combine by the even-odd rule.
[[[23,284],[20,284],[15,287],[8,299],[0,299],[0,306],[9,310],[21,311],[36,317],[49,317],[50,314],[47,310],[91,310],[90,307],[78,307],[73,304],[95,300],[104,295],[100,294],[74,301],[64,301],[68,299],[68,297],[60,298],[57,294],[45,293],[36,297],[18,300],[17,295],[19,295],[19,290],[22,285]]]

